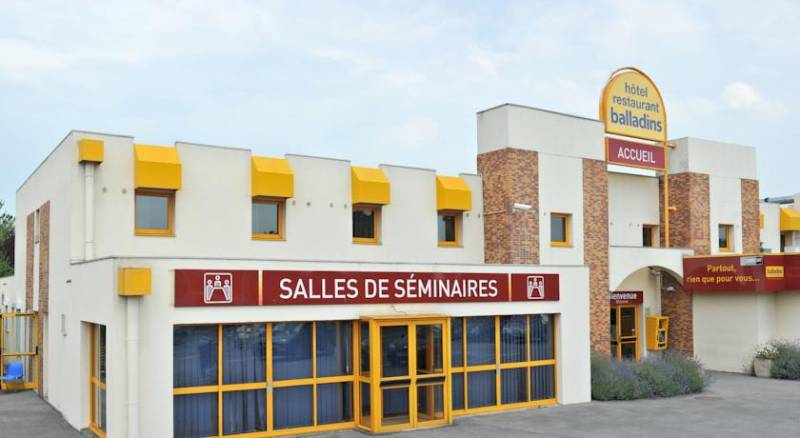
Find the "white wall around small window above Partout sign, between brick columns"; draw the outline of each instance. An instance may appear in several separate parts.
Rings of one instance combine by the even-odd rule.
[[[719,253],[719,225],[733,225],[733,248],[730,252],[742,252],[742,184],[738,178],[710,175],[709,227],[711,253]]]

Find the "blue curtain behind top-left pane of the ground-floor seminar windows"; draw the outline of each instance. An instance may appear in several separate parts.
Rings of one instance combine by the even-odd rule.
[[[216,326],[177,326],[172,347],[175,388],[217,384]]]

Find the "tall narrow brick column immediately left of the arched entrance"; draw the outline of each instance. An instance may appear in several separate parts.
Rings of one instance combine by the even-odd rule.
[[[583,160],[583,258],[589,267],[592,350],[609,355],[608,171],[599,160]]]

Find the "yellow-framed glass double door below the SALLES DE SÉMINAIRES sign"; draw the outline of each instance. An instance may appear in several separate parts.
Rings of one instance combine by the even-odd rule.
[[[375,432],[391,432],[448,424],[449,343],[444,340],[449,339],[449,320],[373,319],[368,330],[369,344],[374,346],[370,362],[378,372],[361,379],[370,380],[373,401],[371,424],[362,425]],[[364,391],[361,395],[367,396]]]

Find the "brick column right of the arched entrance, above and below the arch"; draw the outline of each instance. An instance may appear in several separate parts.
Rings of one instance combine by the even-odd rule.
[[[663,177],[659,181],[659,203],[664,208]],[[695,255],[711,252],[711,199],[706,174],[685,172],[669,176],[669,237],[673,248],[691,248]],[[661,238],[664,238],[661,219]],[[668,289],[672,289],[669,291]],[[683,290],[682,281],[669,274],[662,276],[661,314],[670,317],[670,349],[685,354],[694,352],[692,296]]]

